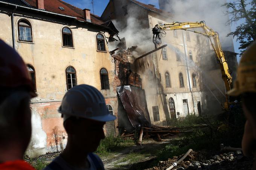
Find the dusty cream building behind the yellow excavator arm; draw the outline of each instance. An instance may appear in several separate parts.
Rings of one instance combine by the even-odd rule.
[[[110,0],[101,17],[112,20],[124,35],[130,34],[132,39],[126,36],[126,44],[138,45],[133,53],[135,59],[154,49],[152,28],[156,24],[175,21],[171,12],[136,0]],[[162,42],[168,46],[131,65],[131,70],[142,78],[151,123],[167,125],[189,114],[221,112],[226,92],[209,39],[175,30],[166,31]],[[229,54],[236,61],[236,54]]]

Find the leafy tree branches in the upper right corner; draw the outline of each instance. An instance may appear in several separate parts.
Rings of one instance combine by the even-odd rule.
[[[226,6],[226,14],[230,17],[228,24],[243,21],[234,32],[227,35],[236,37],[236,41],[240,43],[239,49],[243,52],[256,40],[256,0],[233,0],[223,6]]]

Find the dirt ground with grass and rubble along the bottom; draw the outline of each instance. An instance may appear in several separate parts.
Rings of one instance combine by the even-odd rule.
[[[99,156],[106,170],[165,170],[171,166],[173,162],[183,156],[177,155],[173,158],[169,158],[167,161],[155,162],[156,153],[167,144],[172,143],[173,140],[177,140],[177,138],[164,139],[161,142],[144,140],[142,141],[142,146],[129,146],[122,150],[110,151],[104,155],[99,154]],[[43,160],[45,164],[49,164],[58,155],[59,153],[42,155],[32,161],[32,164],[37,164],[40,159]],[[239,152],[200,150],[192,151],[190,155],[178,164],[177,167],[173,168],[173,170],[250,170],[252,169],[252,164],[252,158],[247,158]]]

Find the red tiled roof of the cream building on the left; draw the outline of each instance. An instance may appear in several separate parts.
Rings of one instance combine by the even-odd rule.
[[[29,5],[36,7],[36,0],[25,0]],[[59,7],[62,6],[65,10],[62,11]],[[45,11],[54,12],[62,15],[69,15],[76,17],[78,20],[86,21],[84,19],[84,12],[82,9],[77,8],[69,3],[66,3],[62,0],[44,0],[44,9]],[[104,21],[97,15],[91,14],[91,23],[94,24],[103,24]]]

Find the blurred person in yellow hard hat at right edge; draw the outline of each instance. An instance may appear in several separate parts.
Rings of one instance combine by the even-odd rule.
[[[242,139],[242,149],[246,156],[256,156],[256,42],[244,52],[238,66],[234,88],[228,92],[230,96],[242,97],[242,107],[247,121]],[[254,162],[256,170],[256,162]]]

